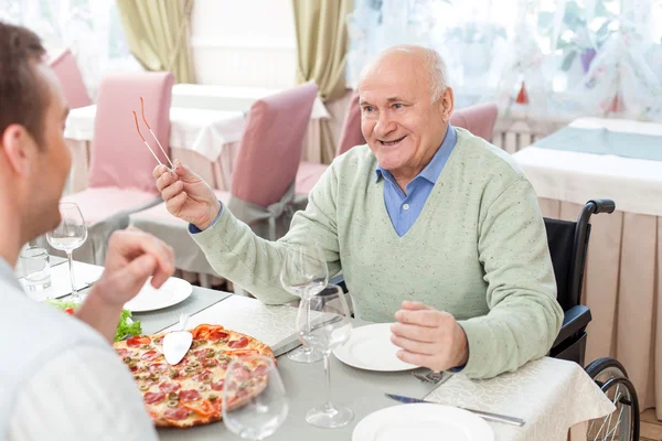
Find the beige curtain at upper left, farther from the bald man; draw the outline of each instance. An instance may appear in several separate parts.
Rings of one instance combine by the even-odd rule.
[[[195,83],[189,37],[193,0],[117,0],[129,49],[147,71]]]

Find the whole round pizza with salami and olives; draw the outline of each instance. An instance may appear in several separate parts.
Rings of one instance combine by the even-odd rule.
[[[276,361],[266,344],[221,325],[201,324],[190,332],[191,348],[173,366],[163,356],[167,333],[135,335],[113,345],[131,370],[145,407],[158,427],[188,428],[218,421],[229,363],[252,354]],[[242,406],[261,392],[267,384],[266,370],[267,365],[259,359],[242,363],[234,373],[239,383],[228,386],[233,394],[231,406]]]

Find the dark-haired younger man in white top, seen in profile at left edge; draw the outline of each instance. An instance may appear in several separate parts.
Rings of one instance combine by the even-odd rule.
[[[31,31],[0,22],[0,440],[156,440],[113,342],[122,305],[172,250],[138,230],[115,234],[106,269],[77,319],[29,299],[13,275],[21,246],[57,226],[71,166],[66,103]]]

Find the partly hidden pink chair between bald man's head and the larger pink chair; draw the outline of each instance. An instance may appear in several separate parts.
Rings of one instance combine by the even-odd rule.
[[[365,143],[365,138],[361,132],[361,108],[359,107],[359,90],[354,90],[352,99],[348,107],[345,118],[340,135],[340,142],[335,149],[335,155],[339,157],[354,146]],[[299,195],[308,195],[314,184],[320,180],[329,165],[314,162],[301,161],[299,171],[297,172],[296,193]]]

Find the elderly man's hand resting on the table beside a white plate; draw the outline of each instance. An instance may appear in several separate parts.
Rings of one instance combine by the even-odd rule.
[[[467,335],[451,314],[419,302],[404,301],[395,319],[399,323],[391,327],[391,341],[402,347],[397,356],[403,362],[433,370],[467,364]]]

